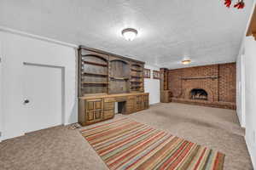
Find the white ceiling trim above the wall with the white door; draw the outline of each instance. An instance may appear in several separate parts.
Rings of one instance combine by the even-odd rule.
[[[25,31],[18,31],[18,30],[15,30],[15,29],[12,29],[12,28],[9,28],[9,27],[6,27],[6,26],[0,26],[0,31],[12,33],[12,34],[23,36],[23,37],[31,37],[31,38],[38,39],[38,40],[41,40],[41,41],[44,41],[44,42],[51,42],[51,43],[59,44],[59,45],[62,45],[62,46],[67,46],[67,47],[70,47],[70,48],[79,48],[78,45],[75,45],[75,44],[72,44],[72,43],[61,42],[61,41],[58,41],[58,40],[55,40],[55,39],[52,39],[52,38],[42,37],[42,36],[38,36],[38,35],[35,35],[35,34],[27,33]]]

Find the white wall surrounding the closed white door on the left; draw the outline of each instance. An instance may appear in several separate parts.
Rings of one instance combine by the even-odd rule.
[[[0,31],[0,39],[3,43],[3,139],[25,133],[23,62],[65,68],[64,122],[77,122],[75,48],[5,31]]]

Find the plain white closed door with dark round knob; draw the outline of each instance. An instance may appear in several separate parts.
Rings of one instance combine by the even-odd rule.
[[[62,69],[24,64],[26,133],[62,124]]]

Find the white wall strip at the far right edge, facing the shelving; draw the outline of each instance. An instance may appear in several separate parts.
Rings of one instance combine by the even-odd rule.
[[[245,55],[245,111],[246,111],[246,142],[253,167],[256,168],[256,41],[253,37],[246,37],[244,41]]]

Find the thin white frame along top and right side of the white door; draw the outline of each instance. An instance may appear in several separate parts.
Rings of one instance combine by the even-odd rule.
[[[61,125],[65,124],[65,67],[57,66],[57,65],[44,65],[38,63],[30,63],[30,62],[23,62],[23,65],[32,65],[32,66],[40,66],[40,67],[48,67],[48,68],[57,68],[61,69]],[[24,84],[24,83],[23,83]]]

